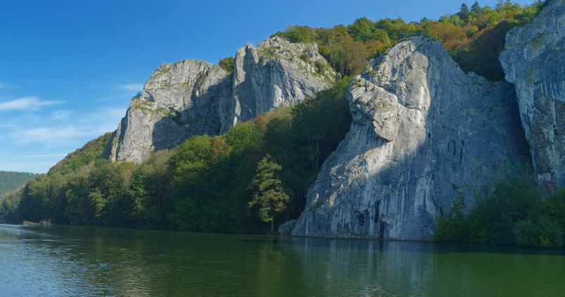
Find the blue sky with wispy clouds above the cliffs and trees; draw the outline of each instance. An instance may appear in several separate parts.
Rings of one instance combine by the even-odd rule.
[[[1,1],[0,170],[46,172],[86,141],[114,131],[162,62],[218,62],[288,25],[332,27],[363,16],[437,19],[461,3]]]

